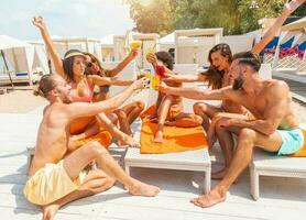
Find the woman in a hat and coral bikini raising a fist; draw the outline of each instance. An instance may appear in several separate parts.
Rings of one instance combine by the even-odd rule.
[[[56,74],[62,76],[72,85],[72,95],[74,97],[74,101],[91,102],[95,85],[106,85],[106,80],[103,79],[103,77],[100,77],[98,75],[85,75],[86,56],[78,50],[69,50],[65,54],[64,59],[61,59],[48,35],[43,18],[34,18],[33,24],[40,29],[41,35],[54,62]],[[128,86],[131,82],[132,81],[127,80],[116,80],[112,81],[112,85]],[[81,136],[73,136],[72,141],[80,138],[86,138],[94,132],[98,132],[100,128],[103,128],[105,130],[109,131],[112,136],[118,139],[118,144],[139,146],[139,143],[134,141],[130,135],[121,132],[116,127],[116,123],[117,116],[114,113],[106,116],[103,112],[101,112],[94,118],[80,118],[72,122],[70,133],[73,135],[81,134]],[[86,132],[84,133],[84,131]]]

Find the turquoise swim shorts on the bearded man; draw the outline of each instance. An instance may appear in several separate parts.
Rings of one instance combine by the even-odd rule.
[[[276,130],[282,136],[283,143],[277,155],[293,154],[300,150],[304,143],[304,135],[300,129]]]

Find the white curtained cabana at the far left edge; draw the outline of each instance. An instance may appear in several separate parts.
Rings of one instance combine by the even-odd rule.
[[[7,35],[0,35],[0,50],[3,58],[1,84],[29,82],[32,85],[34,46]]]

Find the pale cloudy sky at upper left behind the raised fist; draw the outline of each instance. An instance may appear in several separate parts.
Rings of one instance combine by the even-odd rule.
[[[95,37],[125,34],[134,26],[129,6],[122,0],[1,0],[0,34],[19,40],[40,40],[32,24],[42,15],[50,35]]]

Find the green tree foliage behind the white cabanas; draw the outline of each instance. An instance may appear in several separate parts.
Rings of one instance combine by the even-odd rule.
[[[256,0],[259,8],[251,9],[251,0],[127,0],[138,31],[161,35],[178,29],[223,28],[225,34],[243,34],[260,28],[262,18],[275,18],[283,9],[283,0]],[[294,15],[305,15],[302,6]]]

